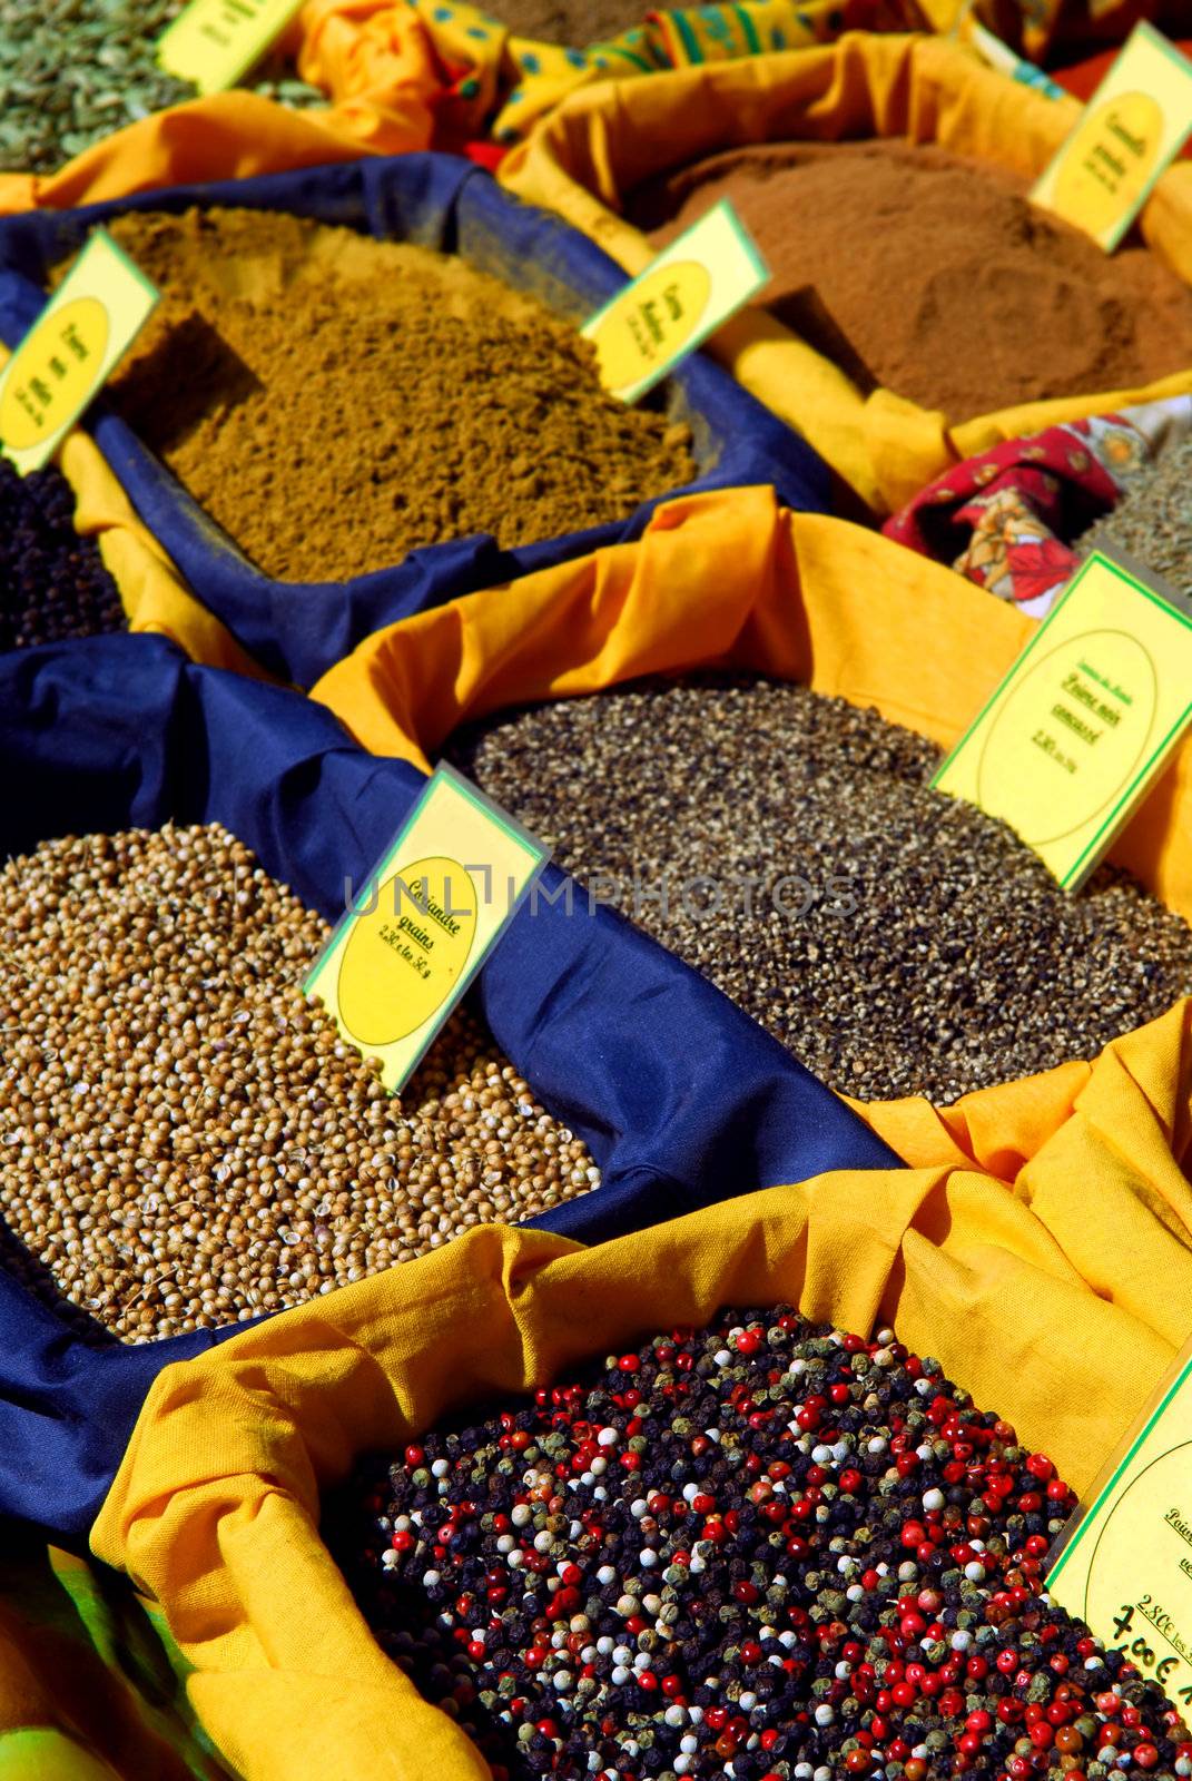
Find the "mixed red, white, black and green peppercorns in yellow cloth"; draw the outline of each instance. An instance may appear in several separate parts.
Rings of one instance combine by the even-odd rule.
[[[1041,1599],[1073,1509],[893,1330],[777,1309],[369,1462],[330,1525],[497,1781],[1174,1781],[1162,1690]]]

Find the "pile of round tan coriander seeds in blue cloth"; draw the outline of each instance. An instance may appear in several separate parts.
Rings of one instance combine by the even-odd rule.
[[[392,1099],[301,992],[328,933],[216,825],[9,860],[9,1268],[144,1341],[301,1304],[599,1183],[463,1013]]]

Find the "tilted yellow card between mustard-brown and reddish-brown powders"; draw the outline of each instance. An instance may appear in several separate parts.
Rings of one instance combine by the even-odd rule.
[[[722,198],[579,329],[597,349],[604,388],[636,403],[768,280],[766,262]]]

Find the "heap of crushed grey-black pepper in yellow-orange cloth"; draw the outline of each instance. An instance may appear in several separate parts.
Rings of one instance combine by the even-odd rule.
[[[1092,1058],[1192,988],[1192,931],[1133,878],[1062,892],[1008,828],[928,787],[930,743],[807,687],[643,682],[506,712],[451,759],[868,1101],[950,1102]]]

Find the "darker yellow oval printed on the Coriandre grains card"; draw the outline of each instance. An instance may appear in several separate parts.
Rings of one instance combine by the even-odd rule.
[[[444,855],[378,887],[339,967],[339,1010],[360,1045],[394,1045],[429,1021],[463,974],[478,915],[476,882]]]

